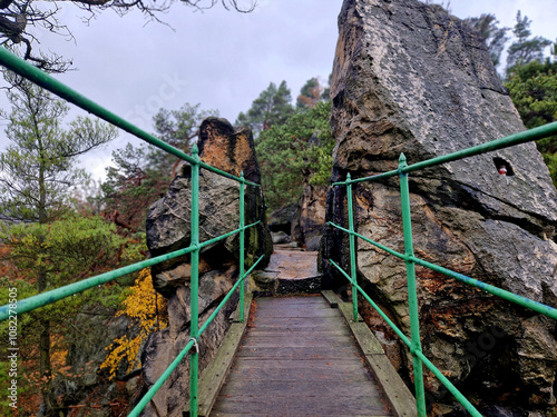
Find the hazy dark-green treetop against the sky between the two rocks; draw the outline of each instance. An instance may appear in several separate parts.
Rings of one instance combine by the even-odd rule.
[[[238,115],[235,125],[252,128],[256,136],[274,125],[284,123],[294,112],[291,101],[292,97],[286,81],[282,81],[278,88],[271,82],[267,89],[252,102],[250,110]]]

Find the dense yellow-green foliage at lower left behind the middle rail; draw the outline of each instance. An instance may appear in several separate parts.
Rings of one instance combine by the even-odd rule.
[[[143,259],[145,250],[143,242],[123,238],[116,226],[102,218],[76,215],[46,225],[3,224],[0,241],[2,300],[7,299],[8,288],[17,288],[19,300],[37,295],[39,272],[45,275],[45,289],[49,290]],[[110,314],[121,305],[123,288],[118,284],[99,286],[18,316],[19,381],[25,388],[20,390],[20,403],[26,404],[26,410],[37,411],[32,404],[50,381],[39,370],[43,322],[49,326],[50,375],[71,379],[66,356],[70,341],[80,338],[84,330],[75,322],[76,314]],[[7,340],[4,325],[0,325],[0,337]]]

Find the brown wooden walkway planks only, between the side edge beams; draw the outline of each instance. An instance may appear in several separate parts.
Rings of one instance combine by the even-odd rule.
[[[212,416],[391,416],[338,309],[321,297],[257,298]]]

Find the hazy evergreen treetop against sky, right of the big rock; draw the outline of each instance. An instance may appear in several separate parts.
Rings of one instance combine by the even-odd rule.
[[[544,49],[551,44],[549,39],[543,37],[531,37],[531,20],[527,16],[522,18],[520,10],[517,12],[517,22],[512,29],[512,34],[517,38],[508,49],[507,56],[507,78],[511,76],[517,66],[524,66],[531,61],[544,59]]]

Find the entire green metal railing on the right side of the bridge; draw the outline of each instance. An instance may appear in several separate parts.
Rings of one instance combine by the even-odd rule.
[[[413,374],[414,374],[414,393],[416,393],[416,405],[419,416],[426,416],[426,395],[423,389],[423,370],[422,365],[426,365],[433,375],[439,378],[439,380],[447,387],[447,389],[457,398],[457,400],[466,408],[468,413],[472,416],[481,417],[481,414],[465,398],[465,396],[452,385],[452,383],[447,379],[447,377],[423,355],[420,342],[420,322],[419,322],[419,310],[418,310],[418,296],[416,290],[416,265],[429,268],[437,272],[443,274],[448,277],[455,278],[461,282],[466,282],[495,296],[504,298],[508,301],[515,302],[519,306],[529,308],[536,312],[543,314],[557,320],[557,309],[546,306],[544,304],[534,301],[526,297],[518,296],[505,289],[495,287],[492,285],[479,281],[477,279],[467,277],[462,274],[455,272],[450,269],[440,267],[438,265],[428,262],[423,259],[417,258],[413,251],[412,242],[412,226],[410,218],[410,191],[408,186],[408,175],[409,172],[417,171],[420,169],[439,166],[444,162],[456,161],[459,159],[473,157],[477,155],[486,153],[492,150],[504,149],[519,143],[529,142],[532,140],[543,139],[553,135],[557,135],[557,122],[553,122],[539,128],[530,129],[519,133],[510,135],[505,138],[500,138],[488,143],[479,145],[476,147],[467,148],[458,152],[444,155],[441,157],[424,160],[422,162],[407,165],[407,159],[403,153],[401,153],[399,159],[399,168],[389,172],[380,173],[377,176],[351,179],[350,173],[346,175],[345,181],[334,182],[333,187],[346,187],[346,200],[348,200],[348,215],[349,215],[349,228],[344,228],[341,225],[336,225],[332,221],[328,222],[329,226],[334,227],[349,234],[350,237],[350,270],[349,275],[345,272],[334,260],[329,259],[331,265],[338,269],[342,276],[344,276],[352,286],[352,300],[353,300],[353,311],[354,321],[358,321],[358,292],[360,292],[365,300],[368,300],[371,306],[379,312],[379,315],[387,321],[387,324],[394,330],[394,332],[401,338],[404,345],[408,346],[413,359]],[[354,231],[354,220],[353,220],[353,201],[352,201],[352,186],[358,182],[363,181],[377,181],[384,178],[395,177],[400,178],[400,192],[401,192],[401,207],[402,207],[402,230],[404,239],[404,254],[400,254],[384,245],[373,241],[356,231]],[[387,251],[402,259],[407,268],[407,285],[408,285],[408,305],[410,315],[410,339],[400,330],[397,325],[389,319],[389,317],[379,308],[379,306],[365,294],[365,291],[358,285],[356,281],[356,261],[355,261],[355,248],[354,248],[354,237],[358,237],[379,249]]]

